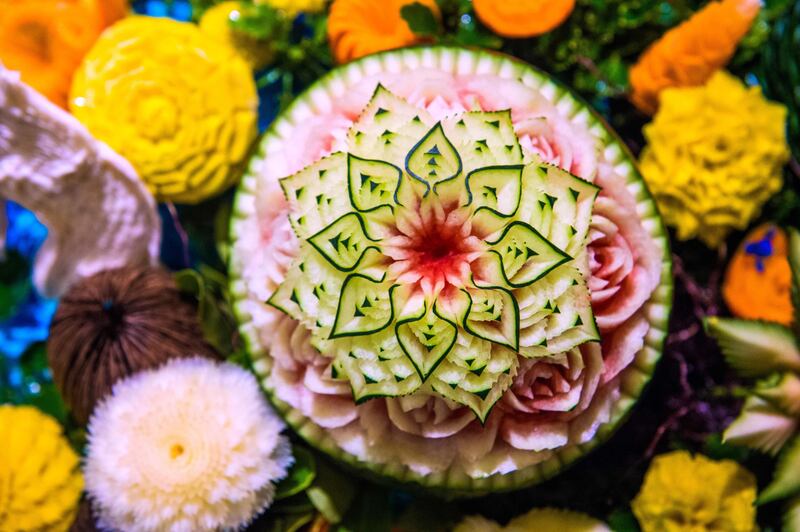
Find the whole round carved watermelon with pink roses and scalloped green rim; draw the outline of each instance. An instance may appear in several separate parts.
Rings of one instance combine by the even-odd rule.
[[[434,48],[334,71],[232,220],[241,330],[312,444],[460,492],[605,437],[666,328],[666,237],[627,154],[538,72]]]

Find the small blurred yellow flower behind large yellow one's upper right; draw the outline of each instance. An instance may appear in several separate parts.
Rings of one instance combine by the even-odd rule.
[[[250,68],[260,70],[272,60],[272,44],[267,40],[235,31],[231,21],[241,16],[242,3],[237,1],[222,2],[203,14],[200,29],[209,36],[235,48],[239,55],[247,61]]]

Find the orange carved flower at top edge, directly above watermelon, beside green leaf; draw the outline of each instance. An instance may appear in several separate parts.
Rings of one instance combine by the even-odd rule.
[[[419,2],[438,18],[434,0],[335,0],[328,17],[328,39],[339,63],[383,50],[417,44],[419,38],[400,15],[407,4]]]

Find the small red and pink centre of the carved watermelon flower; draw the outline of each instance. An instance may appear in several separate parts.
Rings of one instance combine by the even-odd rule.
[[[384,249],[394,261],[390,274],[401,283],[419,283],[426,293],[441,292],[448,285],[465,286],[473,261],[485,251],[471,228],[458,210],[445,214],[441,206],[425,204],[420,212],[403,209],[397,236]]]

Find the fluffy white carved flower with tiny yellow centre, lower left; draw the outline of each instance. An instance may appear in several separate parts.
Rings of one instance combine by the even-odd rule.
[[[293,462],[252,374],[203,358],[119,381],[88,428],[86,491],[101,530],[242,530]]]

